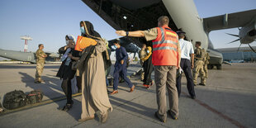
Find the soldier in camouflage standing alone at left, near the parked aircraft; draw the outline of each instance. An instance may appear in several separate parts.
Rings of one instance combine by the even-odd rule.
[[[41,78],[41,74],[43,73],[44,66],[45,66],[45,58],[47,55],[43,51],[44,45],[40,44],[38,45],[39,49],[36,50],[36,79],[35,83],[42,83],[44,82]]]

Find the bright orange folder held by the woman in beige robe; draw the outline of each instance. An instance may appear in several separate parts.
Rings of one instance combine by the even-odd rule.
[[[83,49],[87,48],[90,45],[97,45],[97,41],[93,40],[92,38],[78,36],[74,50],[83,51]]]

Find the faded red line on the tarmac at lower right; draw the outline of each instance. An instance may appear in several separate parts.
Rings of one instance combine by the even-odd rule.
[[[186,92],[182,92],[183,94],[187,95],[190,97]],[[213,107],[208,106],[206,103],[201,102],[200,100],[194,99],[195,102],[197,102],[199,105],[202,107],[205,107],[207,110],[216,113],[218,116],[224,118],[226,121],[229,121],[231,124],[238,126],[239,128],[245,128],[242,124],[239,123],[239,121],[235,121],[235,119],[230,118],[229,116],[226,116],[225,114],[221,113],[220,111],[217,111]]]

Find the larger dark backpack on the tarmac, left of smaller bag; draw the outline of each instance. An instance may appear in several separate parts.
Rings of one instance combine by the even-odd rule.
[[[3,97],[2,107],[6,109],[15,109],[18,107],[26,106],[27,98],[26,94],[21,90],[7,92]]]

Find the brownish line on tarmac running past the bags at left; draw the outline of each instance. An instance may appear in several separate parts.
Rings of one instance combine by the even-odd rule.
[[[81,96],[81,95],[82,95],[82,93],[79,92],[79,93],[73,94],[72,97],[78,97],[78,96]],[[30,109],[32,107],[40,107],[40,106],[43,106],[43,105],[46,105],[46,104],[50,104],[52,102],[59,102],[59,101],[64,100],[64,99],[66,99],[66,96],[55,97],[54,99],[48,99],[48,100],[45,100],[45,101],[42,101],[42,102],[37,102],[37,103],[34,103],[34,104],[28,104],[25,107],[19,107],[19,108],[12,109],[12,110],[5,109],[2,113],[0,113],[0,116],[7,115],[7,114],[17,112],[17,111],[27,110],[27,109]]]

